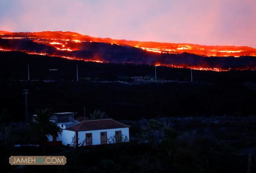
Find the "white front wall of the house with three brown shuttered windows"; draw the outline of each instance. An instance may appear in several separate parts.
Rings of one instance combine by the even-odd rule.
[[[113,129],[102,129],[102,130],[88,130],[78,132],[78,144],[85,140],[86,133],[92,133],[92,145],[100,145],[100,132],[107,132],[107,138],[115,136],[115,131],[122,130],[122,135],[127,136],[129,141],[129,128],[113,128]],[[64,131],[64,130],[63,130]],[[62,134],[63,138],[64,134]],[[63,142],[62,142],[63,144]]]

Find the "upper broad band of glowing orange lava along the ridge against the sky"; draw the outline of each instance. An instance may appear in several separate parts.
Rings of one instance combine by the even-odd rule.
[[[42,31],[42,32],[19,32],[12,33],[7,31],[0,32],[0,38],[5,39],[21,39],[21,38],[34,38],[35,42],[41,42],[42,44],[54,45],[54,47],[60,44],[70,44],[70,43],[82,43],[83,41],[90,42],[102,42],[110,43],[116,45],[128,45],[132,47],[137,47],[146,51],[151,51],[155,53],[193,53],[200,56],[217,56],[217,57],[227,57],[227,56],[256,56],[256,49],[247,46],[206,46],[197,44],[186,44],[186,43],[158,43],[152,41],[129,41],[129,40],[118,40],[110,38],[99,38],[90,37],[88,35],[82,35],[80,33],[74,32],[62,32],[62,31]],[[37,40],[38,39],[38,40]],[[55,44],[53,44],[55,42]],[[52,43],[52,44],[50,44]],[[55,47],[55,48],[56,48]],[[70,44],[67,47],[70,50],[76,50]]]

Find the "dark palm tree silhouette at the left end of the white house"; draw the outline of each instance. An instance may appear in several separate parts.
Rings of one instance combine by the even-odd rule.
[[[56,136],[60,134],[60,128],[54,123],[50,122],[52,117],[51,109],[37,109],[35,122],[29,125],[29,135],[35,138],[42,145],[42,153],[45,153],[45,144],[48,141],[48,137]]]

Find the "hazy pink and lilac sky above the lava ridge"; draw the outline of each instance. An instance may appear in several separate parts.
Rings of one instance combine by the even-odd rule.
[[[0,30],[256,48],[256,0],[0,0]]]

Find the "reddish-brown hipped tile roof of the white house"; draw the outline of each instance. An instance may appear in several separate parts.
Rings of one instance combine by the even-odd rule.
[[[126,127],[130,127],[130,126],[126,126],[112,119],[103,119],[103,120],[82,121],[79,124],[76,124],[70,128],[67,128],[67,130],[86,131],[86,130],[100,130],[100,129],[126,128]]]

